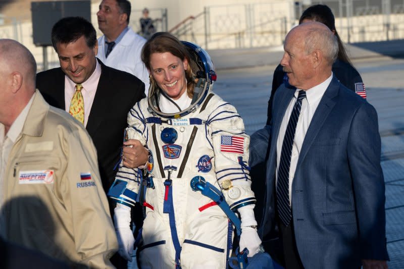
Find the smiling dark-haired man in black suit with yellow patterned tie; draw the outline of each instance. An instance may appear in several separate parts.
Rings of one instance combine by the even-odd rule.
[[[98,49],[95,29],[83,18],[69,17],[57,22],[52,30],[52,43],[61,67],[38,73],[36,87],[49,104],[83,120],[97,149],[107,192],[115,179],[114,166],[120,158],[127,114],[144,97],[144,84],[95,58]],[[81,115],[73,107],[77,100],[76,85],[81,88],[84,102],[84,111],[79,110]]]

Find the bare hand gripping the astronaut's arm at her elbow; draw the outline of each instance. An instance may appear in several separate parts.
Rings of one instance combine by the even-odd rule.
[[[148,159],[148,150],[139,140],[129,139],[123,142],[122,160],[127,168],[144,166]]]

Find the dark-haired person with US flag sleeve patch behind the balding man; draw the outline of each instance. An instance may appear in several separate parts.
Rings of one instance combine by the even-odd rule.
[[[361,75],[359,75],[358,71],[349,61],[341,38],[335,29],[335,18],[331,9],[326,5],[314,5],[309,7],[303,12],[303,14],[301,14],[299,24],[310,21],[325,24],[334,33],[338,40],[338,57],[335,63],[332,65],[332,72],[338,78],[339,82],[341,82],[341,84],[348,89],[358,93],[363,98],[366,98],[365,85],[362,81]],[[267,125],[269,125],[272,119],[271,106],[275,91],[282,83],[287,83],[287,81],[286,73],[283,72],[282,66],[278,65],[272,79],[271,97],[268,101]],[[286,85],[288,85],[288,83]]]

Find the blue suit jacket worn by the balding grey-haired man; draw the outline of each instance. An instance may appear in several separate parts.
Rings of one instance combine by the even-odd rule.
[[[276,225],[276,141],[294,91],[279,87],[271,125],[251,136],[250,166],[263,162],[262,149],[270,147],[263,237]],[[334,77],[306,133],[292,183],[295,240],[306,268],[358,268],[361,259],[388,259],[380,153],[374,107]]]

